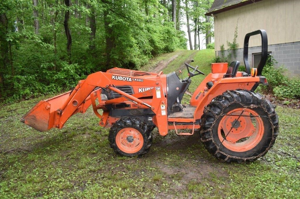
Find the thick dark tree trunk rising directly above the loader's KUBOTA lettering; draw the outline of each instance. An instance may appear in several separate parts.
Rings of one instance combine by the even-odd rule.
[[[109,26],[110,22],[107,18],[108,10],[104,10],[104,29],[105,29],[105,41],[106,41],[106,68],[115,66],[116,63],[111,59],[111,51],[115,47],[115,41],[113,38],[113,30]]]

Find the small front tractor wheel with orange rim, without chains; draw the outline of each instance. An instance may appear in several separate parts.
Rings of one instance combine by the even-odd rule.
[[[124,117],[110,128],[110,147],[117,154],[128,157],[147,153],[152,145],[152,133],[147,125],[137,118]]]

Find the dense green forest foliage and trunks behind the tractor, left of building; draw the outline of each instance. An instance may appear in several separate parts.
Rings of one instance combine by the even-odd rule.
[[[188,7],[196,5],[196,1],[199,0],[188,1]],[[180,0],[1,1],[1,101],[59,92],[95,71],[112,67],[138,69],[153,56],[187,48],[185,33],[180,30],[185,13],[180,10],[181,3],[184,4]],[[174,4],[177,22],[173,19]],[[191,18],[197,14],[187,12]]]

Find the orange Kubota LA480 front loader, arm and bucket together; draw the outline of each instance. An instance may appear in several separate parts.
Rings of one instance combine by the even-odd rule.
[[[115,87],[115,85],[124,85],[125,82],[129,85],[135,86],[142,86],[145,84],[153,86],[153,88],[156,88],[156,95],[149,94],[150,91],[146,91],[144,94],[130,95]],[[167,116],[164,114],[157,114],[162,112],[161,104],[167,104],[161,81],[161,73],[156,75],[151,74],[147,76],[133,77],[127,75],[118,76],[105,72],[96,72],[90,74],[86,79],[80,80],[73,91],[69,91],[48,100],[40,101],[20,120],[38,131],[47,131],[51,128],[62,128],[64,123],[66,123],[66,121],[73,114],[78,112],[84,113],[91,104],[93,105],[95,114],[100,118],[100,120],[106,120],[108,116],[107,111],[104,111],[104,118],[104,116],[98,113],[97,109],[99,108],[95,104],[96,98],[101,101],[101,96],[99,94],[99,90],[101,88],[110,89],[122,95],[122,97],[120,97],[122,98],[120,99],[121,101],[129,99],[137,104],[145,106],[146,108],[151,108],[151,110],[155,113],[155,117],[160,117],[159,119],[155,120],[157,121],[160,133],[167,134],[167,127],[164,125],[167,122]],[[151,91],[150,93],[154,92]],[[151,105],[145,103],[143,100],[138,99],[138,97],[150,95],[153,95]],[[113,102],[113,100],[111,102]]]

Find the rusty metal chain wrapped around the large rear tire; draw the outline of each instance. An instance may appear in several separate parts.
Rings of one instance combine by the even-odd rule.
[[[217,143],[215,143],[215,141],[214,141],[214,139],[213,139],[213,137],[212,137],[212,129],[211,129],[211,127],[214,126],[215,122],[217,121],[217,119],[218,119],[219,117],[224,116],[226,113],[223,113],[223,109],[222,109],[221,114],[216,115],[216,114],[214,114],[214,112],[213,112],[212,110],[210,110],[207,106],[205,106],[204,109],[205,109],[205,110],[208,110],[210,113],[212,113],[212,114],[214,115],[214,117],[215,117],[215,120],[214,120],[214,122],[212,123],[212,125],[211,125],[210,128],[206,129],[205,131],[202,131],[203,133],[204,133],[204,132],[207,132],[207,131],[210,131],[210,136],[211,136],[211,137],[208,138],[208,139],[205,139],[205,140],[203,140],[203,139],[200,137],[201,142],[207,142],[207,141],[211,140],[211,141],[214,143],[214,145],[217,147],[217,151],[214,153],[214,155],[216,155],[218,152],[220,152],[221,154],[223,154],[223,155],[226,156],[226,158],[224,159],[225,161],[227,161],[229,158],[235,158],[235,159],[240,159],[240,160],[246,161],[246,160],[256,159],[256,158],[262,157],[262,156],[263,156],[263,155],[264,155],[264,154],[265,154],[265,153],[273,146],[274,140],[275,140],[276,137],[277,137],[277,135],[274,137],[274,129],[277,128],[278,125],[273,125],[272,120],[271,120],[271,116],[274,116],[275,114],[269,114],[268,111],[267,111],[267,109],[263,106],[263,102],[266,101],[265,97],[263,97],[263,96],[262,96],[262,100],[261,100],[262,102],[261,102],[260,105],[250,105],[250,106],[245,106],[245,105],[243,105],[241,102],[236,101],[236,100],[235,100],[235,97],[232,95],[232,93],[231,93],[229,90],[227,90],[226,92],[230,95],[230,97],[232,97],[232,99],[234,99],[234,101],[233,101],[233,102],[230,102],[229,104],[227,104],[227,106],[229,106],[229,105],[231,105],[231,104],[233,104],[233,103],[238,103],[238,104],[240,104],[241,106],[243,106],[244,108],[258,108],[258,107],[260,107],[260,108],[262,108],[262,109],[268,114],[268,118],[269,118],[269,121],[270,121],[271,126],[272,126],[272,140],[271,140],[269,146],[266,148],[266,150],[265,150],[264,152],[262,152],[262,153],[260,153],[259,155],[256,155],[256,156],[252,156],[252,157],[246,157],[246,158],[236,157],[236,156],[228,155],[228,154],[224,153],[223,151],[220,151],[220,150],[219,150],[219,146],[217,145]],[[223,103],[221,103],[221,102],[219,102],[219,103],[220,103],[223,107],[225,106]]]

